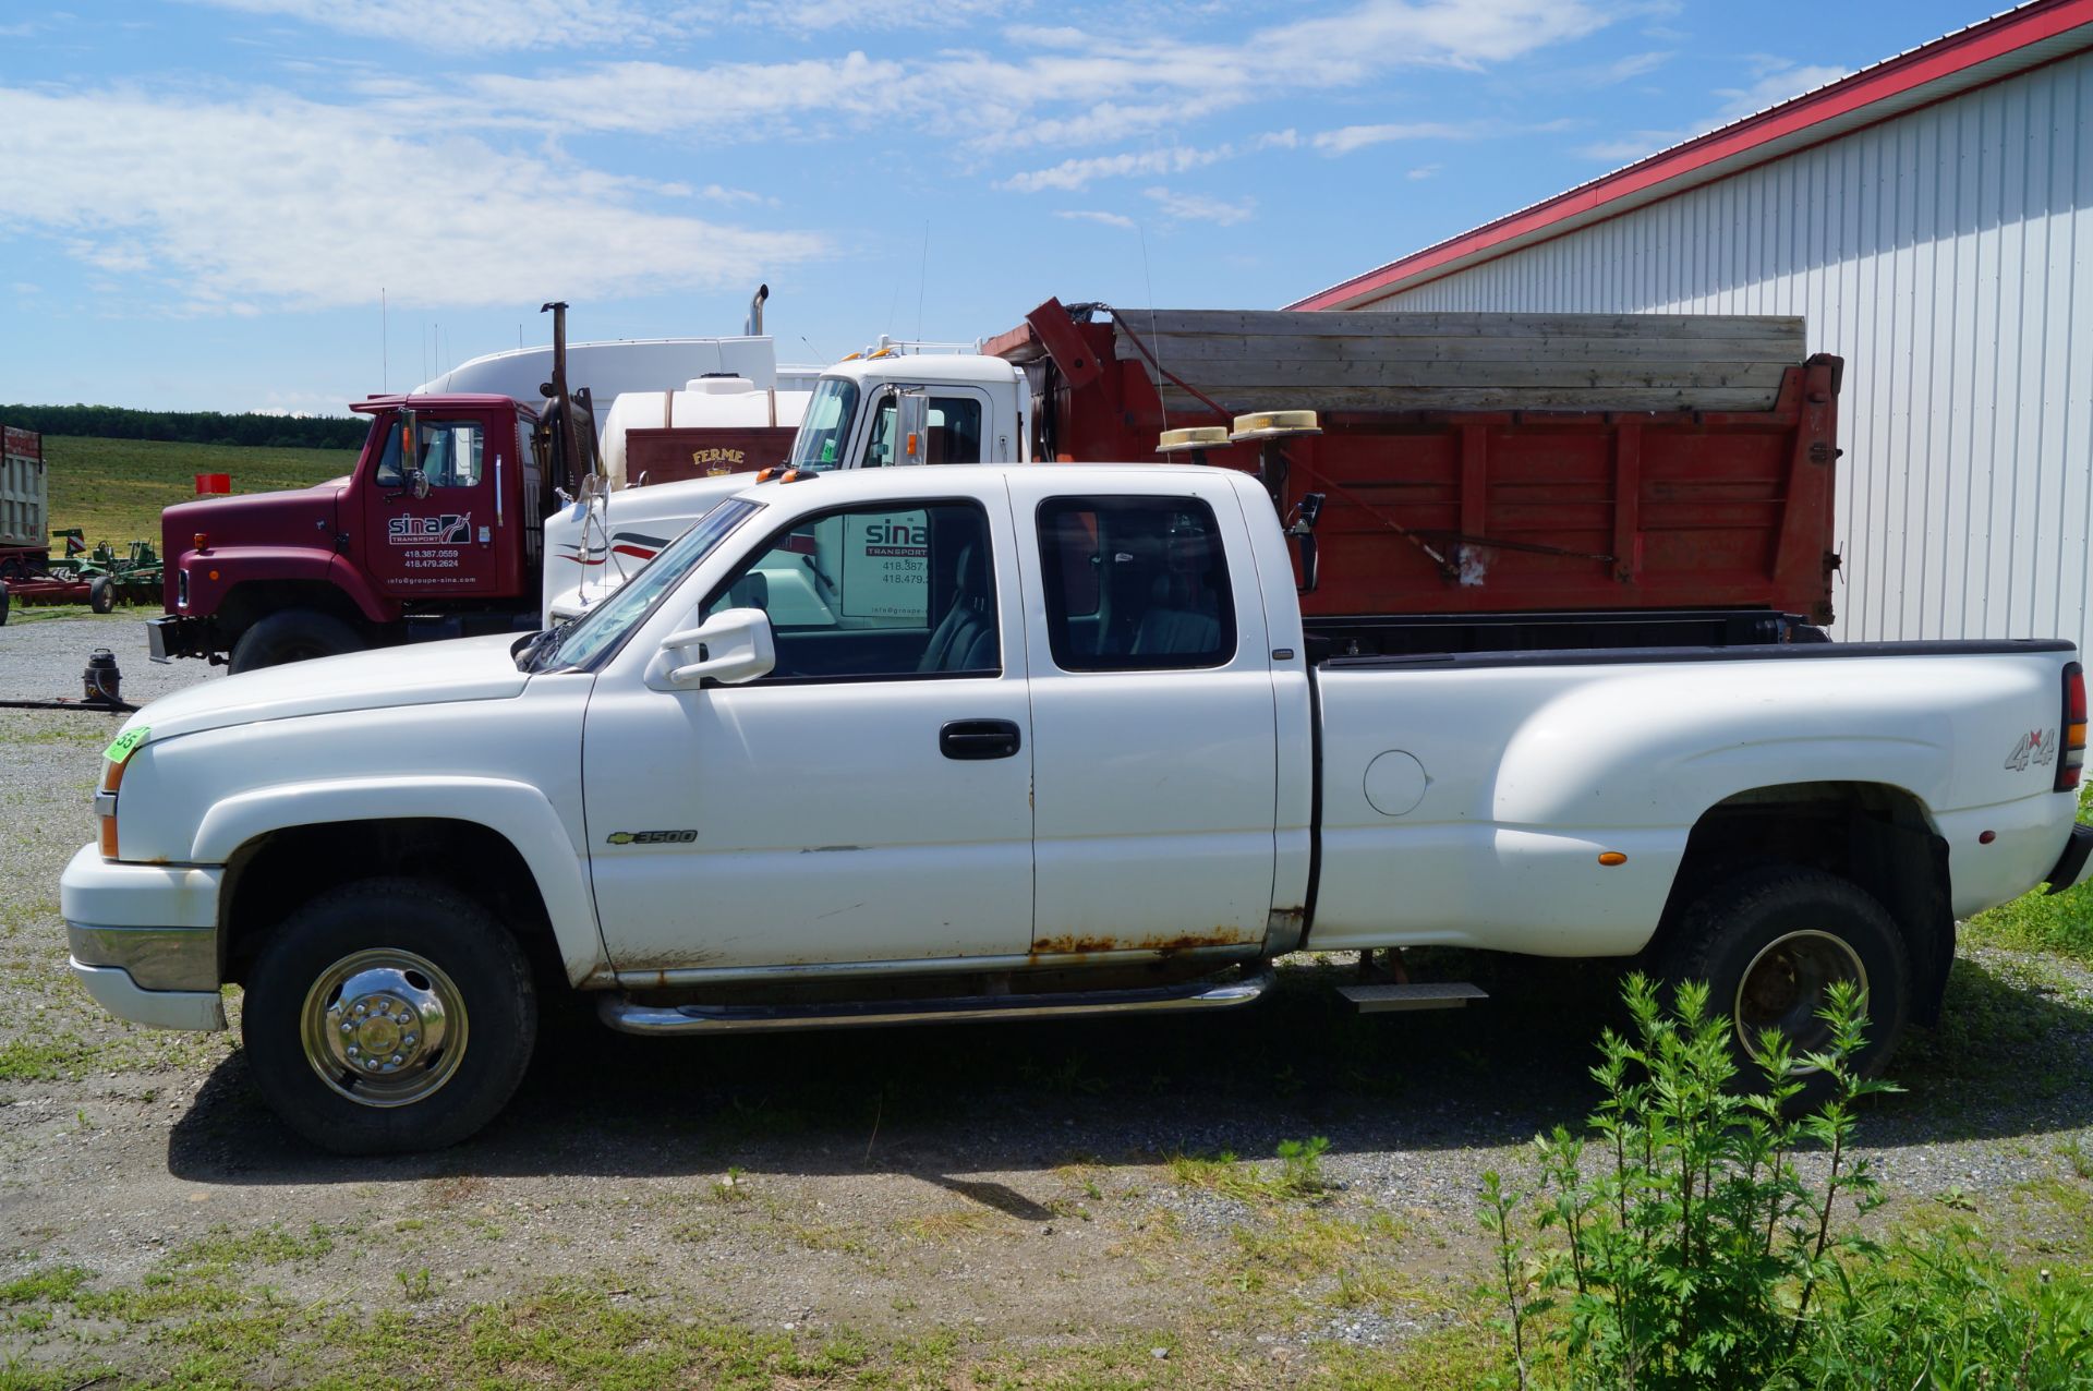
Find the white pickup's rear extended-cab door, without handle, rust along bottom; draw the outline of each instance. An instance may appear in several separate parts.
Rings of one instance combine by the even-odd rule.
[[[1013,475],[1028,535],[1034,950],[1262,941],[1277,722],[1229,479]],[[1036,542],[1032,540],[1036,538]]]

